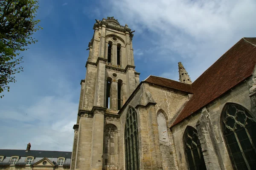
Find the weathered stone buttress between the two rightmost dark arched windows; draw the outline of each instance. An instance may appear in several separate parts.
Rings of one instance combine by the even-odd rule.
[[[200,140],[204,162],[207,169],[224,170],[224,163],[214,134],[212,123],[209,119],[209,112],[202,109],[202,114],[196,124],[198,139]]]

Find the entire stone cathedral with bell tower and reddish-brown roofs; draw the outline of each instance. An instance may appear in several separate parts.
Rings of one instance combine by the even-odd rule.
[[[96,20],[71,170],[256,170],[256,38],[242,38],[194,82],[140,81],[133,32]],[[75,115],[74,115],[75,116]]]

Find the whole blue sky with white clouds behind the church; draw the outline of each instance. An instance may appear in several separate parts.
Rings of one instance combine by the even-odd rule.
[[[140,80],[178,81],[181,61],[195,81],[242,37],[255,37],[255,0],[40,0],[44,29],[23,52],[24,72],[0,99],[0,148],[71,151],[80,81],[95,19],[114,16],[135,30]]]

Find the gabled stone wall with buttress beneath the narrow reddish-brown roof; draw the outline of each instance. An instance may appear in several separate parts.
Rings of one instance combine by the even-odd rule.
[[[173,89],[141,84],[131,101],[120,112],[120,164],[125,166],[124,129],[129,107],[135,108],[138,116],[140,169],[176,169],[175,150],[169,122],[188,101],[188,94]],[[159,140],[157,112],[166,116],[166,134],[168,142]]]

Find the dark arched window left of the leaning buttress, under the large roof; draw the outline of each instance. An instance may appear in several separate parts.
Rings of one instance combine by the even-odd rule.
[[[183,141],[189,170],[206,170],[201,144],[195,128],[186,127]]]

